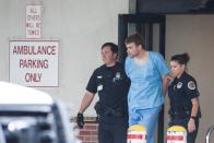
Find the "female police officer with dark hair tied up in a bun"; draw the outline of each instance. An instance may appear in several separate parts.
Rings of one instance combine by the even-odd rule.
[[[170,100],[171,126],[182,126],[187,129],[187,143],[194,143],[198,128],[200,105],[197,81],[186,72],[189,55],[175,55],[170,59],[171,74],[175,78],[168,87]]]

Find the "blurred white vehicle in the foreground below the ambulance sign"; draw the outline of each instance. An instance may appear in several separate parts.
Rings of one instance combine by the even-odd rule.
[[[64,104],[48,94],[0,82],[0,143],[81,143]]]

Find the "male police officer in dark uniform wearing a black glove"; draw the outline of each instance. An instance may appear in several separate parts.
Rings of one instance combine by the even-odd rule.
[[[78,126],[83,128],[83,112],[98,93],[99,102],[96,110],[98,120],[99,143],[126,143],[128,129],[127,95],[130,81],[123,65],[117,62],[118,46],[105,43],[102,46],[104,64],[92,74],[79,114]]]

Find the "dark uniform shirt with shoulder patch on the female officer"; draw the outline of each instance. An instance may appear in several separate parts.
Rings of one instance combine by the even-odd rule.
[[[171,111],[182,111],[186,107],[190,107],[189,109],[191,111],[191,99],[200,96],[197,81],[190,74],[183,72],[179,79],[175,78],[169,85],[168,96]]]

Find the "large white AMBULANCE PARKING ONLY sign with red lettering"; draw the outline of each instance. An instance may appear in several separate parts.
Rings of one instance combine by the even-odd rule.
[[[58,40],[10,40],[10,82],[59,86],[58,50]]]

